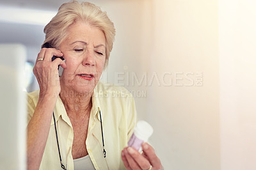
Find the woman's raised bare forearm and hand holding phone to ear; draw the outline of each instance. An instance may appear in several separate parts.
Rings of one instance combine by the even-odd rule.
[[[63,68],[67,67],[65,61],[60,58],[52,61],[52,56],[61,57],[63,54],[56,49],[41,49],[33,68],[40,86],[40,93],[34,114],[27,126],[27,166],[29,170],[40,167],[51,127],[52,111],[60,93],[58,65]]]

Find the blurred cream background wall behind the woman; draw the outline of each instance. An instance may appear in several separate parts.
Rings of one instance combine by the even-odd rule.
[[[0,1],[2,9],[56,13],[60,1]],[[116,40],[102,81],[125,86],[165,169],[255,169],[255,3],[250,0],[90,1]],[[3,12],[3,10],[1,10]],[[16,13],[15,13],[16,12]],[[0,42],[35,61],[44,24],[0,17]],[[49,17],[49,20],[51,17]],[[28,91],[38,88],[36,81]]]

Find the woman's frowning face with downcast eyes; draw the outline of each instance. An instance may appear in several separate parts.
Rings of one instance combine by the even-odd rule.
[[[68,27],[68,36],[59,50],[67,68],[61,76],[61,89],[90,93],[99,82],[106,60],[104,33],[96,27],[77,22]]]

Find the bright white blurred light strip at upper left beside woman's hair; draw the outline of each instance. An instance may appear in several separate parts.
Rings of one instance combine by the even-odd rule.
[[[0,22],[45,26],[57,12],[0,6]]]

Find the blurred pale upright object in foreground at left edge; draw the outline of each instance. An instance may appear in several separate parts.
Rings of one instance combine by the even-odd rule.
[[[26,48],[0,44],[0,169],[26,169]]]

